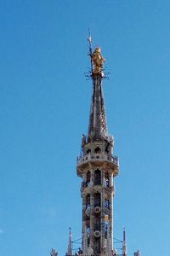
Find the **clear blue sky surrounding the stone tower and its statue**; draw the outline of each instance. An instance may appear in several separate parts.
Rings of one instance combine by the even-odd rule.
[[[81,237],[91,81],[88,26],[107,60],[108,127],[120,158],[115,237],[170,255],[170,1],[0,1],[0,255],[63,256]]]

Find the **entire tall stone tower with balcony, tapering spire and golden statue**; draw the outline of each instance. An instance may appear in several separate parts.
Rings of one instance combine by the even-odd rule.
[[[107,132],[102,90],[104,57],[97,47],[91,57],[93,95],[88,135],[82,135],[82,154],[77,158],[77,175],[82,177],[82,254],[113,253],[114,177],[119,172],[113,156],[114,140]]]

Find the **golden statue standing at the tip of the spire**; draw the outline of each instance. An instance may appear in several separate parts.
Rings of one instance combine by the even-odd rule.
[[[92,54],[92,61],[94,64],[93,73],[100,73],[103,76],[102,68],[105,59],[101,55],[101,49],[99,47],[96,47],[96,49],[94,49],[94,53]]]

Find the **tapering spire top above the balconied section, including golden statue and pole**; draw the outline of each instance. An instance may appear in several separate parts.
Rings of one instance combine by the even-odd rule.
[[[105,102],[102,90],[103,63],[104,57],[101,55],[101,49],[96,47],[92,53],[92,41],[89,42],[89,55],[92,63],[93,95],[90,109],[90,118],[88,125],[88,141],[101,140],[107,137],[107,125],[105,119]]]

